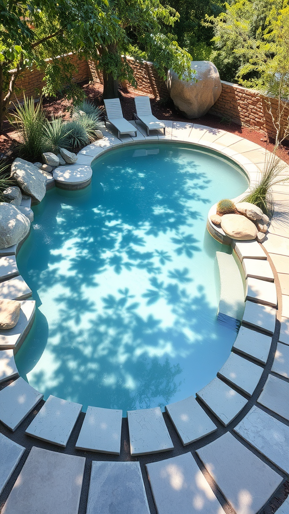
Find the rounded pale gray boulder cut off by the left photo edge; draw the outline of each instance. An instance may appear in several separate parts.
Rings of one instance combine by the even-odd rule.
[[[0,203],[0,248],[20,243],[29,229],[29,219],[14,205]]]

